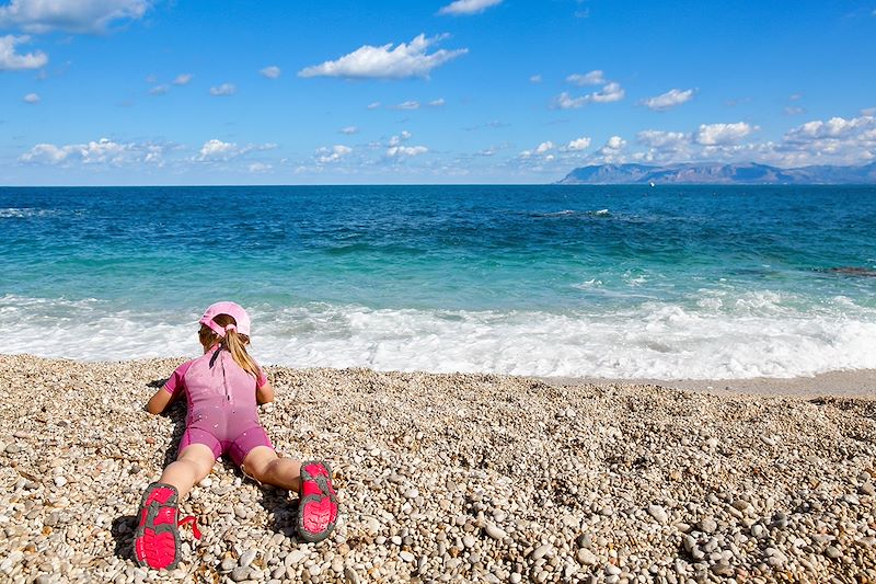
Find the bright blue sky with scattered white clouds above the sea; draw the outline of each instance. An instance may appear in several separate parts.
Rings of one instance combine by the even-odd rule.
[[[876,1],[0,1],[0,184],[876,160]]]

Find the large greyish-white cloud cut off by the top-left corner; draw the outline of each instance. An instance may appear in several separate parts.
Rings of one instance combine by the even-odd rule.
[[[0,27],[28,33],[102,33],[123,20],[141,19],[150,0],[12,0],[0,7]]]

